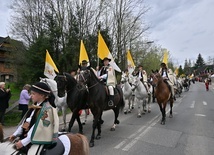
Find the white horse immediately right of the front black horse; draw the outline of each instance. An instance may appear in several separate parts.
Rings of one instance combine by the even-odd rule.
[[[134,108],[134,96],[130,84],[131,79],[126,73],[122,72],[120,82],[122,83],[121,88],[123,91],[123,99],[125,102],[124,114],[131,113],[131,110]]]

